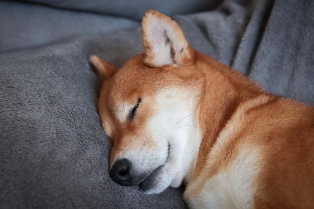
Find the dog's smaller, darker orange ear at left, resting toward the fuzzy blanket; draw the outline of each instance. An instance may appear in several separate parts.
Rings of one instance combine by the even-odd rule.
[[[88,59],[90,65],[94,68],[98,79],[103,82],[105,79],[110,78],[118,71],[115,65],[112,65],[99,57],[92,55]]]

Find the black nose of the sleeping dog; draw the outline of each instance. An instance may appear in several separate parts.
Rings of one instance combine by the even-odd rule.
[[[128,159],[119,159],[115,161],[110,169],[110,177],[113,181],[124,185],[132,185],[132,164]]]

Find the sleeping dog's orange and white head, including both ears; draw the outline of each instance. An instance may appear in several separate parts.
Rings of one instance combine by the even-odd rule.
[[[176,22],[157,11],[142,19],[144,53],[120,69],[90,57],[103,80],[99,115],[113,141],[110,176],[146,193],[189,179],[200,144],[196,52]]]

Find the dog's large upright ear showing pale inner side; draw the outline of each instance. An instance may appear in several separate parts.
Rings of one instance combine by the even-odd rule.
[[[166,15],[147,11],[142,19],[144,65],[160,67],[168,64],[189,66],[194,63],[194,50],[182,29]]]

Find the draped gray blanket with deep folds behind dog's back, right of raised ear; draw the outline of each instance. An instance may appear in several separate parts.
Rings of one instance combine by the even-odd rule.
[[[214,11],[176,20],[200,52],[274,94],[314,104],[312,14],[310,0],[230,0]]]

